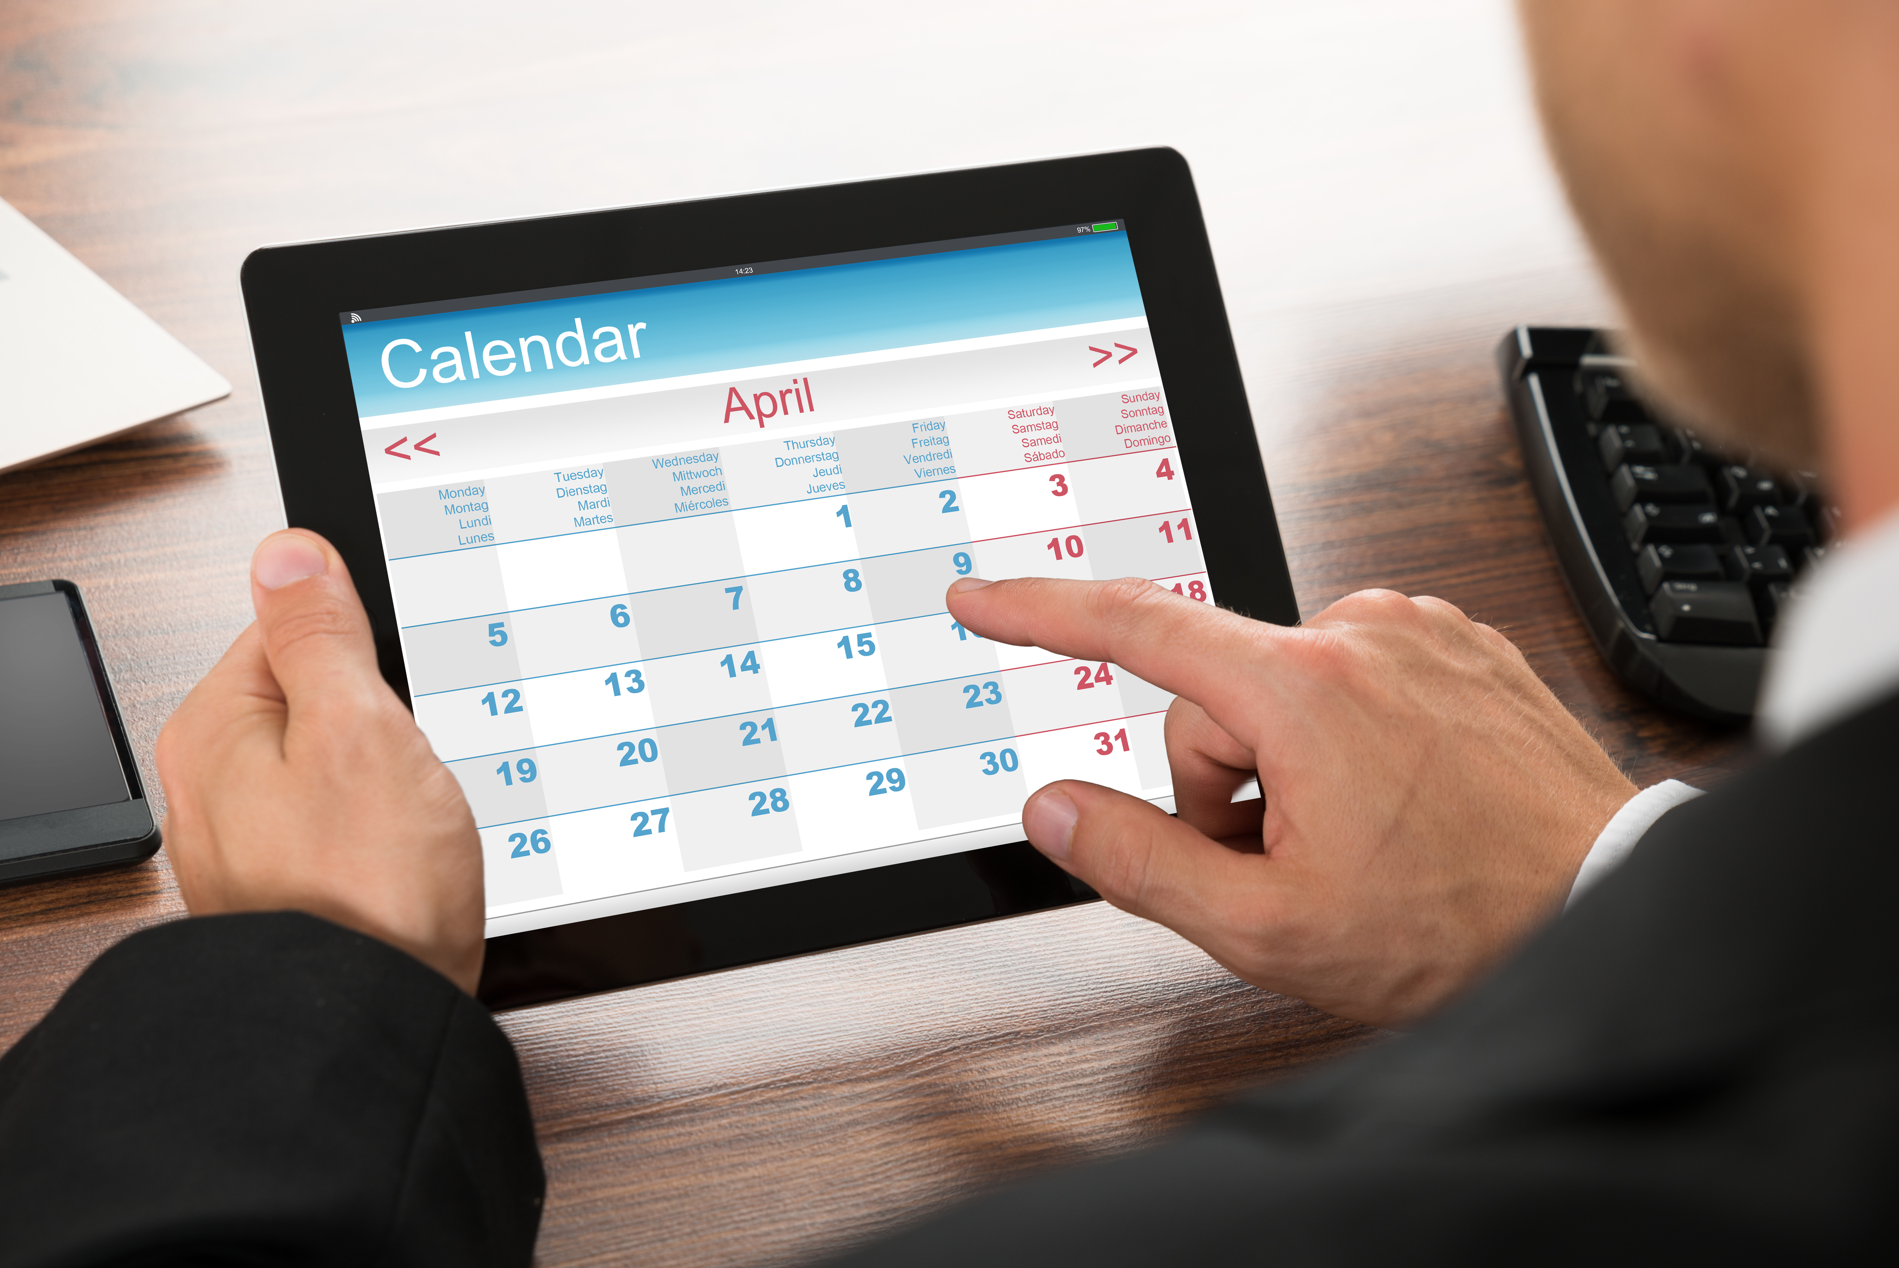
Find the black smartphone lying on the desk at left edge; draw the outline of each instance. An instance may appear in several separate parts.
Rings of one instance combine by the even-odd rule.
[[[0,882],[156,852],[158,823],[80,587],[0,586]]]

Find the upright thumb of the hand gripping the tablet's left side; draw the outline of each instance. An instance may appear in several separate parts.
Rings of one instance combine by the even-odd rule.
[[[272,677],[300,707],[382,684],[368,614],[336,548],[308,528],[264,538],[251,557],[251,605]]]

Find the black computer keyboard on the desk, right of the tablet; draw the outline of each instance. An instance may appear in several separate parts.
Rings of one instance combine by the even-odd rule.
[[[1601,331],[1519,325],[1496,363],[1603,658],[1675,709],[1751,717],[1774,620],[1833,536],[1812,477],[1776,477],[1650,414]]]

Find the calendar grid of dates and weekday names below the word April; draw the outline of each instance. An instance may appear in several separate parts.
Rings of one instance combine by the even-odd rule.
[[[1060,778],[1172,793],[1166,692],[944,606],[957,576],[1147,576],[1212,603],[1158,378],[687,430],[404,483],[378,515],[490,913],[957,840]]]

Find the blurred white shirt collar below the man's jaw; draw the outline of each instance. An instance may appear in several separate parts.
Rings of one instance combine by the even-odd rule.
[[[1899,690],[1899,509],[1827,553],[1774,643],[1755,709],[1755,730],[1772,749]]]

